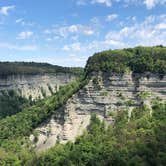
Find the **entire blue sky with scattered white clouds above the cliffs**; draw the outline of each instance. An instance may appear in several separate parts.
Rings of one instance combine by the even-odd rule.
[[[0,61],[84,66],[95,52],[166,45],[166,0],[0,0]]]

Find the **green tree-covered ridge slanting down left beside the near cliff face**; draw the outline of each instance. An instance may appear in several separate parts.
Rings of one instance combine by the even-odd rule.
[[[46,120],[56,109],[61,107],[68,98],[77,92],[86,83],[77,80],[60,90],[53,96],[26,107],[22,112],[0,121],[0,144],[4,139],[15,139],[29,135],[41,122]]]

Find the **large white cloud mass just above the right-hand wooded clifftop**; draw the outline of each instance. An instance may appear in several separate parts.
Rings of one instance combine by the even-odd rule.
[[[106,40],[116,40],[130,46],[166,45],[166,22],[160,17],[147,17],[142,23],[123,27],[120,31],[110,31]]]

